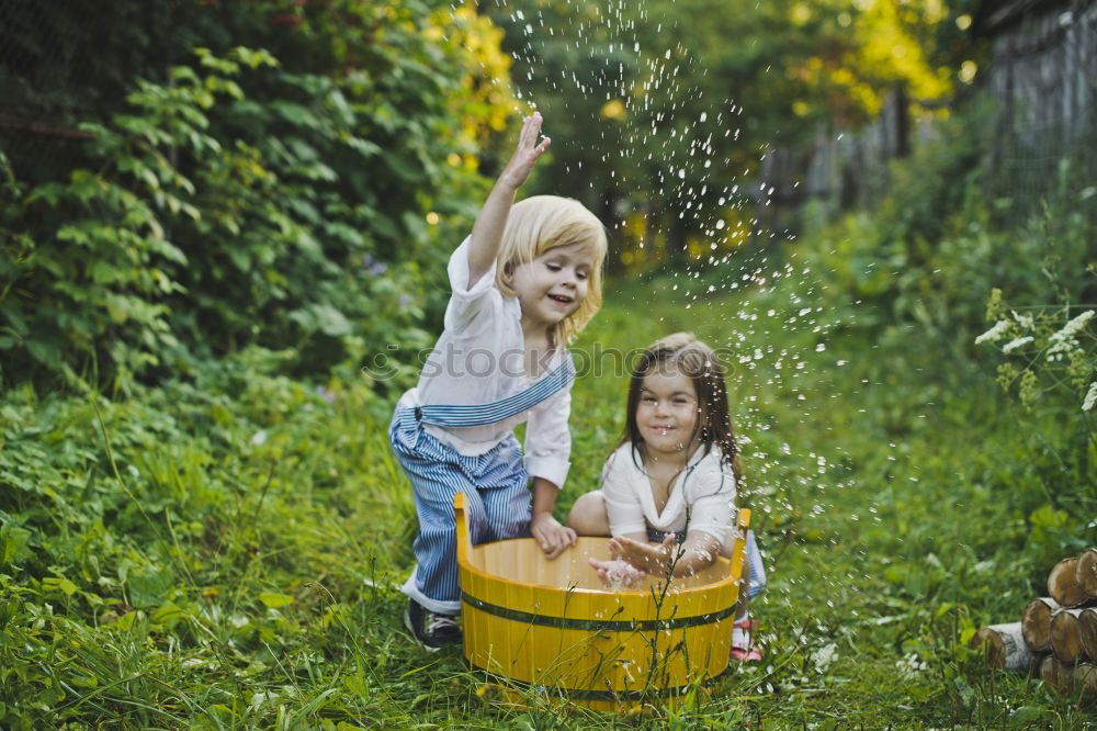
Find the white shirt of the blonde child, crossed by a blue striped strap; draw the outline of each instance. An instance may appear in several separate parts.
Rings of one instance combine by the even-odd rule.
[[[496,265],[468,286],[468,239],[450,257],[450,302],[445,329],[419,373],[419,384],[404,394],[402,406],[487,405],[525,389],[535,379],[525,374],[525,338],[518,300],[504,296],[495,285]],[[544,373],[570,358],[557,348]],[[525,469],[564,486],[570,465],[570,386],[528,412],[477,427],[448,428],[425,425],[427,431],[461,454],[478,456],[498,445],[514,427],[525,428]]]

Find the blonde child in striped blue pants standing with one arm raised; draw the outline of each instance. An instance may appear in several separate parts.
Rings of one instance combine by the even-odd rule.
[[[536,113],[524,120],[471,236],[451,256],[444,330],[389,426],[419,519],[404,621],[428,650],[461,641],[457,492],[467,496],[475,543],[532,533],[554,559],[575,542],[552,515],[570,453],[575,367],[566,346],[601,306],[607,245],[577,201],[514,204],[550,145],[539,142],[541,123]],[[523,458],[513,429],[527,420]]]

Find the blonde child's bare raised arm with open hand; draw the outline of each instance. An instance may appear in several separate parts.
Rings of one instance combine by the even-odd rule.
[[[495,181],[484,207],[476,215],[476,223],[473,224],[468,241],[468,286],[478,282],[491,268],[491,263],[499,255],[502,232],[507,227],[507,216],[510,214],[510,206],[514,204],[514,193],[530,177],[538,158],[548,149],[551,139],[545,137],[538,142],[541,122],[540,112],[525,117],[514,154],[499,173],[499,179]]]

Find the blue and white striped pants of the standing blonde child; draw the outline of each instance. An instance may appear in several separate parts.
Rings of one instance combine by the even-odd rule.
[[[388,427],[397,461],[411,481],[419,533],[416,569],[403,592],[430,611],[461,611],[453,496],[467,496],[472,542],[530,535],[529,474],[518,440],[510,435],[475,457],[461,454],[429,434],[415,409],[397,407]]]

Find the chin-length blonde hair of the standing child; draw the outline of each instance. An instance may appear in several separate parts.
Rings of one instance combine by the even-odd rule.
[[[502,232],[495,284],[507,296],[518,293],[507,284],[513,268],[529,263],[559,246],[590,247],[595,266],[587,279],[587,296],[579,307],[553,328],[553,340],[567,345],[583,331],[602,306],[602,261],[606,259],[606,228],[583,203],[559,195],[533,195],[514,204]]]

